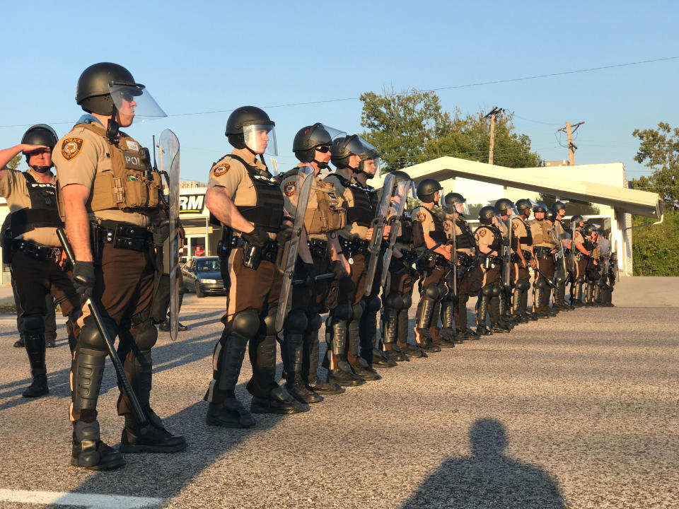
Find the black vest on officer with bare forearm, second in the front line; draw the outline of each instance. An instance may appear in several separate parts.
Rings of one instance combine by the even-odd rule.
[[[236,209],[255,226],[263,228],[267,232],[277,233],[281,229],[284,211],[283,194],[279,182],[267,173],[263,173],[256,166],[249,165],[243,158],[234,154],[228,154],[228,156],[236,159],[245,167],[250,180],[253,182],[255,196],[257,197],[255,205],[238,205]]]

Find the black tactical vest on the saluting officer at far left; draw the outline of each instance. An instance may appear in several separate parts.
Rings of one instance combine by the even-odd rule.
[[[11,213],[9,230],[13,237],[35,228],[64,226],[57,210],[57,190],[54,184],[37,182],[29,172],[23,172],[30,198],[30,208]]]

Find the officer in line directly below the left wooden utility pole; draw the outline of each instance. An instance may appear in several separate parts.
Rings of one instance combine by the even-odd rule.
[[[502,232],[497,227],[499,211],[494,206],[484,206],[479,211],[481,225],[474,232],[479,252],[483,259],[481,264],[483,281],[481,296],[476,305],[477,334],[485,336],[494,332],[509,332],[500,323],[500,292],[502,258]],[[490,310],[490,329],[486,326],[487,312]]]

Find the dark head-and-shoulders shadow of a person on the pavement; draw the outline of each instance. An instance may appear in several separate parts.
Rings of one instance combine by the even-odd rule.
[[[479,419],[469,431],[471,455],[444,461],[402,509],[565,509],[557,482],[544,470],[505,455],[506,430]]]

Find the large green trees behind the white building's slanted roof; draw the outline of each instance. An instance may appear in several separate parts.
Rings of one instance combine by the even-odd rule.
[[[490,147],[488,119],[482,113],[462,117],[460,110],[441,110],[434,92],[368,92],[361,95],[362,134],[383,155],[386,171],[405,168],[441,156],[486,161]],[[495,126],[494,163],[509,168],[541,166],[530,151],[530,138],[517,134],[513,114],[502,115]]]

